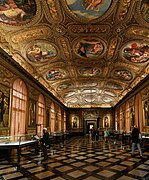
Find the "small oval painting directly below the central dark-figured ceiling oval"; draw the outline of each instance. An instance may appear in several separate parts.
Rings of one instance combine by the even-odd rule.
[[[95,67],[83,67],[79,69],[79,73],[83,76],[95,76],[100,73],[100,70]]]

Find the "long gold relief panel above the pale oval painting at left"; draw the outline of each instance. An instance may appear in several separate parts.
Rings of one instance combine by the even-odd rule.
[[[38,26],[36,28],[32,28],[27,31],[17,32],[15,34],[11,34],[11,40],[13,43],[22,43],[24,41],[28,41],[31,39],[51,35],[51,30],[48,27]]]

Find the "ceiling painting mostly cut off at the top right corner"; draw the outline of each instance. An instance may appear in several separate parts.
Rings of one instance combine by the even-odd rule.
[[[149,23],[149,1],[148,0],[142,0],[141,14],[142,14],[143,19]]]

